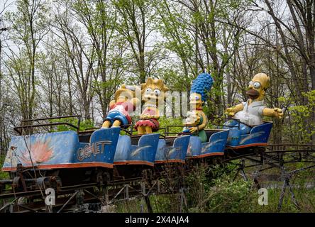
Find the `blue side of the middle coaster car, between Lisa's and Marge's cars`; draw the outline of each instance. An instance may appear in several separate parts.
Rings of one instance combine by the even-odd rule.
[[[159,140],[155,161],[185,160],[190,135],[175,138],[172,146],[167,146],[164,139]]]

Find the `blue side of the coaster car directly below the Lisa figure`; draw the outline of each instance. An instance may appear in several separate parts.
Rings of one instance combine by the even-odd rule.
[[[131,145],[128,135],[119,135],[114,162],[145,161],[154,163],[160,134],[142,135],[138,145]]]

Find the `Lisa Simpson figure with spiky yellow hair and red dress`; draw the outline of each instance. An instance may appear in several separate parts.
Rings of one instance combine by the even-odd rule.
[[[165,92],[168,88],[165,86],[162,79],[152,79],[141,84],[142,99],[145,101],[144,109],[140,115],[140,121],[136,123],[138,134],[148,134],[157,131],[160,127],[157,121],[160,118],[158,104],[165,99]]]

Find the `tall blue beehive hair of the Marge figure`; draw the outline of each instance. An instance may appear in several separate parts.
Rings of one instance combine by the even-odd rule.
[[[206,101],[207,93],[210,91],[212,84],[214,84],[214,79],[212,79],[211,74],[206,72],[201,73],[196,79],[192,81],[192,89],[190,90],[190,94],[201,94],[201,100]]]

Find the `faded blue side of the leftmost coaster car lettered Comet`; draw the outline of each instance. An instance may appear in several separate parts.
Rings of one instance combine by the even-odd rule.
[[[16,167],[19,163],[31,167],[32,162],[34,166],[84,162],[112,164],[119,132],[120,128],[96,130],[91,135],[92,145],[79,143],[79,137],[74,131],[13,136],[3,167]],[[109,141],[110,144],[102,141]],[[84,148],[87,153],[78,159]]]

